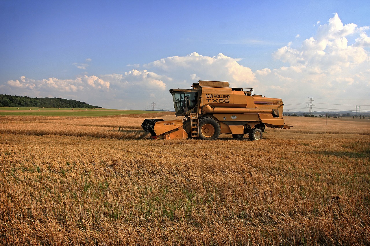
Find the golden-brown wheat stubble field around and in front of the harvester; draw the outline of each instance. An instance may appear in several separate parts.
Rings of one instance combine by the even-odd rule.
[[[0,245],[370,244],[370,120],[205,141],[145,117],[1,116]]]

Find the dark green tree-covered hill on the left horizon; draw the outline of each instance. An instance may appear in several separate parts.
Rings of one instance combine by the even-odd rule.
[[[102,108],[85,102],[61,98],[29,98],[0,94],[0,107],[63,107],[63,108]]]

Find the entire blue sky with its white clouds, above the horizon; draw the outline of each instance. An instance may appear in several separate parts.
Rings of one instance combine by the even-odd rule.
[[[354,110],[370,105],[369,10],[367,1],[3,0],[0,93],[166,109],[169,89],[200,79],[253,87],[286,109],[313,97]]]

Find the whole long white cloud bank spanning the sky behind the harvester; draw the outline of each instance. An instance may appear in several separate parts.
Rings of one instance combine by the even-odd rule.
[[[116,109],[144,109],[151,102],[170,109],[165,107],[172,105],[168,90],[189,88],[198,80],[229,81],[233,87],[252,87],[255,93],[283,100],[367,99],[370,37],[366,31],[369,27],[343,24],[338,14],[326,24],[319,23],[313,37],[299,43],[303,37],[293,34],[292,42],[272,54],[274,59],[284,63],[280,68],[252,71],[240,65],[238,58],[222,53],[208,57],[193,52],[148,64],[129,65],[135,69],[120,74],[41,80],[22,76],[7,81],[0,88],[12,95],[71,98]],[[86,61],[91,62],[91,59]],[[88,64],[73,65],[85,71],[88,67]]]

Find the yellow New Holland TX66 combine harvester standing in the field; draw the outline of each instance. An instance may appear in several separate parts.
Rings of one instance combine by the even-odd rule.
[[[144,131],[154,139],[218,139],[221,133],[242,139],[262,139],[266,126],[290,129],[284,124],[283,101],[253,95],[252,88],[230,88],[229,82],[199,81],[192,89],[171,89],[175,115],[184,120],[145,119]]]

